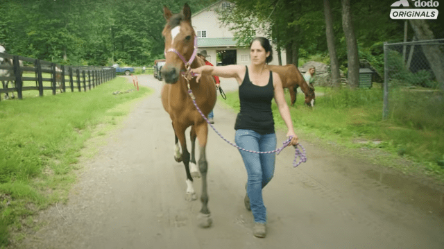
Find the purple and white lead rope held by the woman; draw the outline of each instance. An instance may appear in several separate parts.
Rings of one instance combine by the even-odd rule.
[[[210,123],[210,121],[208,121],[207,117],[205,117],[205,115],[203,114],[203,112],[198,108],[197,103],[196,103],[196,98],[194,97],[193,92],[191,91],[191,89],[188,89],[188,94],[189,96],[191,96],[191,100],[193,101],[194,106],[196,107],[196,109],[198,110],[198,112],[200,113],[200,115],[203,117],[203,119],[205,119],[205,121],[207,121],[207,123],[210,125],[210,127],[217,133],[217,135],[219,135],[219,137],[221,137],[224,141],[226,141],[228,144],[231,144],[232,146],[238,148],[239,150],[242,151],[247,151],[250,153],[259,153],[259,154],[271,154],[271,153],[277,153],[279,155],[279,153],[290,144],[291,138],[289,137],[287,140],[285,140],[282,143],[282,147],[275,149],[274,151],[250,151],[250,150],[246,150],[245,148],[241,148],[239,146],[237,146],[236,144],[233,144],[232,142],[228,141],[227,139],[225,139],[225,137],[223,137],[221,135],[221,133],[219,133],[214,126]],[[302,148],[303,153],[301,153],[299,151],[298,146],[300,146],[300,148]],[[294,146],[296,148],[296,153],[294,156],[294,160],[293,160],[293,166],[297,167],[299,166],[299,164],[301,164],[302,162],[307,162],[307,156],[305,155],[305,148],[302,147],[302,145],[298,144],[298,146]],[[296,161],[298,160],[298,157],[300,157],[300,160],[298,163],[296,163]]]

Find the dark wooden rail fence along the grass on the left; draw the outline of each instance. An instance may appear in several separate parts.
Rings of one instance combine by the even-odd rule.
[[[71,92],[74,92],[74,89],[81,92],[82,88],[86,92],[87,88],[90,90],[91,87],[94,88],[116,77],[116,69],[113,67],[65,66],[8,53],[0,53],[0,58],[13,61],[12,66],[3,64],[0,65],[0,69],[14,72],[14,76],[10,77],[0,75],[0,82],[3,80],[5,82],[7,80],[15,81],[15,84],[9,84],[8,87],[10,88],[0,89],[0,99],[1,94],[8,92],[17,92],[19,99],[23,98],[23,91],[39,91],[39,95],[43,96],[44,90],[52,90],[52,94],[55,95],[58,89],[66,92],[67,87],[71,89]],[[21,65],[20,61],[24,62],[24,66]],[[35,77],[24,77],[23,73],[26,72],[35,73]],[[48,73],[51,78],[43,78],[42,73]],[[68,78],[65,78],[65,76],[68,76]],[[25,86],[24,82],[35,82],[35,86]],[[51,86],[44,86],[44,82],[51,83]]]

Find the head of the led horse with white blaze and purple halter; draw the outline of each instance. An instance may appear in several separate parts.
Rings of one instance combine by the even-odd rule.
[[[161,73],[165,83],[172,84],[178,81],[180,73],[186,69],[185,64],[191,65],[196,57],[197,38],[191,26],[191,9],[187,3],[182,12],[174,15],[167,6],[164,6],[164,17],[167,19],[167,25],[162,31],[165,39],[166,62]]]

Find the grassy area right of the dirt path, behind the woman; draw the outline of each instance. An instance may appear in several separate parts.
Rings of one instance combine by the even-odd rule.
[[[367,151],[375,155],[369,158],[375,164],[444,182],[444,107],[437,104],[436,94],[393,90],[390,117],[383,121],[382,89],[374,85],[373,89],[355,91],[316,87],[313,109],[305,107],[303,95],[298,94],[296,108],[290,111],[302,144],[316,139],[348,155]],[[285,97],[290,103],[288,93]],[[227,93],[227,100],[221,102],[239,111],[237,92]],[[286,130],[274,101],[272,108],[276,127]],[[382,154],[376,155],[377,151]],[[409,164],[400,163],[406,160]]]

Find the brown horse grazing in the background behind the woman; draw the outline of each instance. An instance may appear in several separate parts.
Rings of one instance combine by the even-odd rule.
[[[267,67],[271,71],[278,73],[280,80],[282,81],[282,87],[289,89],[291,106],[294,106],[294,103],[296,102],[298,87],[300,87],[305,94],[305,105],[310,107],[314,106],[314,87],[307,84],[302,74],[300,74],[298,67],[293,64],[285,66],[267,65]]]

